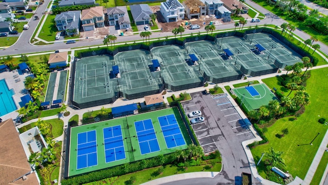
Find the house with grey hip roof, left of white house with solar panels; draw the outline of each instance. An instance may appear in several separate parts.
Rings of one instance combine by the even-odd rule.
[[[153,14],[153,12],[150,10],[147,4],[130,5],[130,9],[134,23],[136,25],[149,24],[151,20],[151,14]]]

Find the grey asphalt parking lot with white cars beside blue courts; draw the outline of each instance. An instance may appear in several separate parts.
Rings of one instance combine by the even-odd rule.
[[[204,117],[203,123],[192,125],[204,153],[219,150],[227,174],[240,176],[241,172],[250,172],[245,168],[249,163],[241,145],[242,141],[255,138],[248,127],[250,122],[242,119],[226,94],[211,96],[198,92],[191,97],[182,106],[186,114],[200,110]]]

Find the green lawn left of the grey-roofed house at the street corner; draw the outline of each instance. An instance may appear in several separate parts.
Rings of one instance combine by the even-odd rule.
[[[54,24],[56,15],[48,15],[45,24],[43,25],[38,38],[43,39],[45,41],[55,41],[55,36],[57,33],[56,25]]]

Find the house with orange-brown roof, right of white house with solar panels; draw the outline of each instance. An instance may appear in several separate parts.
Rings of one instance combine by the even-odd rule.
[[[206,5],[200,0],[186,0],[182,5],[185,7],[186,17],[189,19],[206,15]]]

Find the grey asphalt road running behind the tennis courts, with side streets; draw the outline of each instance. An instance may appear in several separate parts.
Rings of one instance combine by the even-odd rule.
[[[45,4],[40,5],[39,8],[36,10],[36,15],[40,16],[47,7],[47,3],[49,0],[45,1]],[[251,5],[253,8],[257,9],[258,11],[267,14],[270,13],[268,10],[262,8],[261,6],[251,2],[250,0],[246,1],[249,5]],[[11,47],[8,47],[6,49],[0,50],[0,56],[3,55],[14,55],[14,54],[22,54],[22,53],[31,53],[31,52],[43,52],[43,51],[49,51],[49,50],[58,50],[58,49],[69,49],[71,47],[81,47],[81,46],[91,46],[91,45],[99,45],[103,44],[103,40],[84,40],[84,41],[79,41],[75,44],[65,44],[65,43],[60,43],[60,44],[51,44],[51,45],[44,45],[44,46],[36,46],[32,45],[29,43],[29,40],[31,36],[33,35],[34,29],[37,26],[37,23],[40,20],[33,21],[31,20],[29,22],[30,24],[30,29],[26,30],[22,33],[22,35],[19,37],[18,41],[12,45]],[[247,26],[255,26],[256,24],[258,25],[264,25],[264,24],[275,24],[275,25],[281,25],[285,21],[282,20],[281,18],[265,18],[265,20],[262,20],[259,23],[251,23],[248,22],[245,27]],[[234,29],[234,24],[227,24],[227,25],[218,25],[216,26],[216,30],[222,30],[222,29]],[[204,29],[197,29],[197,30],[185,30],[184,34],[188,33],[198,33],[198,31],[205,31]],[[310,35],[302,32],[301,30],[295,30],[294,33],[298,36],[300,36],[302,39],[310,39]],[[158,37],[164,37],[164,36],[173,36],[172,32],[154,32],[151,36],[150,39],[158,38]],[[116,42],[131,42],[134,40],[140,40],[139,35],[131,35],[131,36],[118,36]],[[328,53],[328,46],[322,44],[321,42],[318,42],[321,46],[321,50],[325,53]]]

